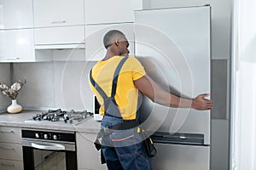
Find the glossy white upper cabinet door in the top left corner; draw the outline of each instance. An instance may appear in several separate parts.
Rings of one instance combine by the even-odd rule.
[[[0,29],[32,26],[32,0],[0,0]]]

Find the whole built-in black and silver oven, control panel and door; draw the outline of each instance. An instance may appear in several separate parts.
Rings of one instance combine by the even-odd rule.
[[[75,132],[22,129],[24,169],[75,170]]]

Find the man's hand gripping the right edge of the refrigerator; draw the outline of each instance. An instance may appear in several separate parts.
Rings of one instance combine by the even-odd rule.
[[[212,100],[205,99],[210,94],[201,94],[198,95],[195,99],[192,100],[191,108],[198,110],[198,111],[205,111],[212,109]]]

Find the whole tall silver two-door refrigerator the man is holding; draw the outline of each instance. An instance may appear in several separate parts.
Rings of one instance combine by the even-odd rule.
[[[210,94],[210,26],[209,6],[135,11],[135,54],[166,91]],[[158,150],[154,169],[209,169],[211,111],[169,108],[144,96],[140,115]]]

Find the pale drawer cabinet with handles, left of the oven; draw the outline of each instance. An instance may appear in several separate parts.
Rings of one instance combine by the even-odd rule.
[[[0,127],[0,169],[23,170],[21,129]]]

